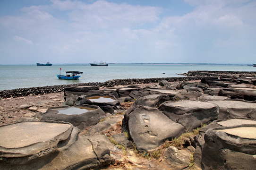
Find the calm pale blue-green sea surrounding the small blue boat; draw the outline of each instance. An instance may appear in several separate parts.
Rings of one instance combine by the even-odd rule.
[[[61,70],[60,70],[61,68]],[[0,65],[0,90],[17,88],[105,82],[112,79],[179,77],[189,70],[256,71],[247,64],[109,64],[92,67],[89,64],[53,64],[52,66]],[[57,74],[81,71],[79,80],[60,80]]]

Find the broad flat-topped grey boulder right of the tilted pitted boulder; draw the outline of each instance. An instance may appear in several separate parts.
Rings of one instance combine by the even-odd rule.
[[[219,108],[216,104],[184,100],[179,102],[164,102],[159,108],[169,119],[180,123],[189,131],[201,124],[218,118]]]

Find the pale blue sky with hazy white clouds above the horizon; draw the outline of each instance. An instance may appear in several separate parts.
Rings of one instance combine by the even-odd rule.
[[[1,0],[0,64],[256,63],[256,0]]]

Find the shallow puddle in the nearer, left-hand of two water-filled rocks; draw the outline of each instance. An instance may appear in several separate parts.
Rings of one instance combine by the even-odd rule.
[[[59,111],[58,114],[66,114],[66,115],[73,115],[73,114],[82,114],[90,110],[95,110],[94,108],[89,107],[70,107],[70,108],[61,108],[61,109],[52,109]]]

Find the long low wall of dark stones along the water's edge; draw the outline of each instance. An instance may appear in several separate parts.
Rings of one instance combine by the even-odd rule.
[[[184,81],[184,80],[199,80],[204,76],[220,76],[223,74],[239,74],[239,75],[255,75],[255,71],[188,71],[188,73],[183,73],[186,77],[162,77],[162,78],[131,78],[131,79],[115,79],[108,80],[106,82],[100,83],[79,83],[75,85],[52,85],[43,87],[31,87],[31,88],[18,88],[12,90],[0,91],[0,98],[8,97],[19,97],[28,95],[38,95],[46,93],[58,93],[63,92],[65,88],[78,86],[78,85],[89,85],[98,87],[113,87],[115,85],[136,85],[136,84],[147,84],[147,83],[158,83],[162,80],[167,80],[169,82]]]

